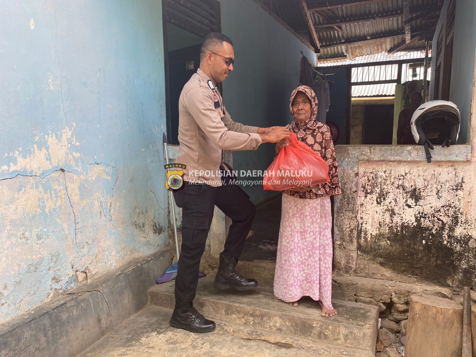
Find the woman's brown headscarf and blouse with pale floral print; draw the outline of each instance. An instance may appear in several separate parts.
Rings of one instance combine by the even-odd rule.
[[[293,90],[291,99],[289,101],[289,109],[293,114],[293,100],[296,97],[297,92],[303,92],[310,99],[311,102],[311,116],[309,119],[303,122],[298,122],[294,119],[289,123],[286,128],[296,134],[296,138],[299,141],[305,143],[309,148],[313,149],[320,155],[329,166],[329,182],[321,183],[317,185],[314,190],[300,192],[290,189],[284,190],[283,193],[297,197],[297,198],[320,198],[324,195],[337,196],[342,192],[340,190],[336,151],[334,149],[334,143],[330,135],[330,129],[326,124],[322,124],[316,121],[317,116],[317,97],[314,91],[307,86],[299,86]],[[322,192],[319,194],[317,192]]]

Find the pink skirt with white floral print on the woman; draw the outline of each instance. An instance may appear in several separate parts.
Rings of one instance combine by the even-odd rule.
[[[283,194],[274,295],[286,302],[303,296],[332,309],[332,216],[330,197]]]

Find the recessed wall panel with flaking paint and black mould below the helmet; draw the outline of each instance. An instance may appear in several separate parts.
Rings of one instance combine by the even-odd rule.
[[[359,163],[359,257],[446,286],[473,286],[473,164]]]

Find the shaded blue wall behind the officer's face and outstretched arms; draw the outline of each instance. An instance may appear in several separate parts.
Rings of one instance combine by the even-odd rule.
[[[302,50],[313,66],[316,54],[252,0],[221,0],[222,32],[235,50],[234,71],[223,84],[231,118],[247,125],[270,127],[291,120],[289,97],[299,85]],[[236,170],[266,170],[274,144],[257,151],[235,151]],[[248,178],[249,179],[249,178]],[[273,194],[262,185],[244,187],[253,202]]]

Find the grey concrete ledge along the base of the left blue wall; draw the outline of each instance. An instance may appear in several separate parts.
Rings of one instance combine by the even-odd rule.
[[[0,357],[74,357],[147,304],[169,268],[165,247],[0,327]]]

